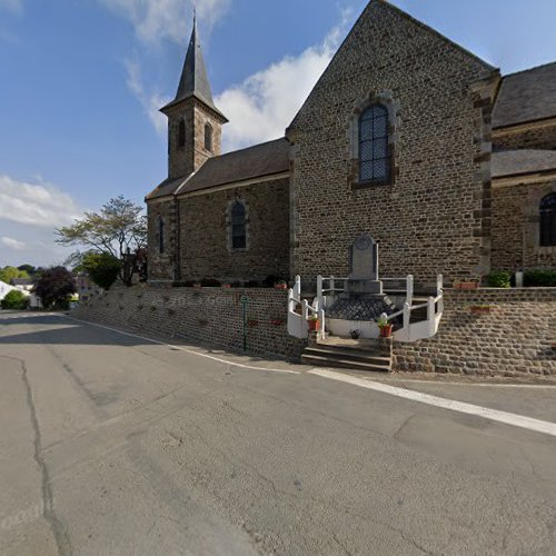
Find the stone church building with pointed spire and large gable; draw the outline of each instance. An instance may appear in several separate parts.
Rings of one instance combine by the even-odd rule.
[[[424,284],[556,267],[556,62],[500,76],[371,0],[285,137],[221,155],[196,28],[161,110],[151,284],[345,276],[361,232]]]

